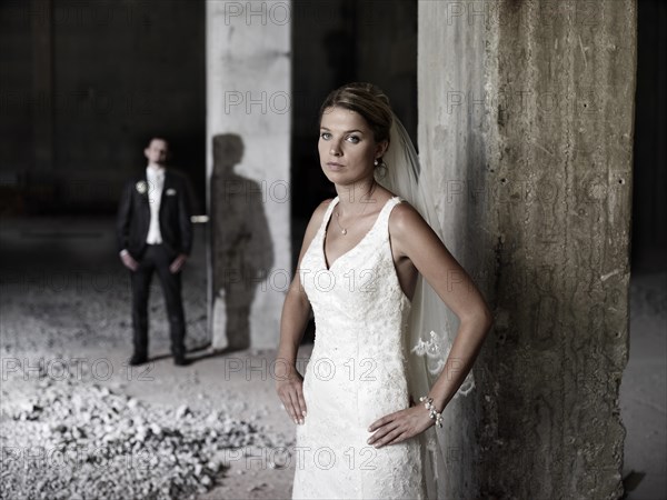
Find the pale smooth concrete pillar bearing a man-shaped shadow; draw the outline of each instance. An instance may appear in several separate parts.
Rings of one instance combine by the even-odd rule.
[[[289,1],[207,1],[215,348],[278,342],[290,274],[290,20]]]

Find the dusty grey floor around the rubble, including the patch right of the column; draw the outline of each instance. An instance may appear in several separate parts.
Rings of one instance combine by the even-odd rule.
[[[32,442],[28,438],[31,429],[38,436],[51,432],[50,428],[39,419],[16,418],[21,412],[27,414],[34,397],[50,390],[44,388],[44,380],[53,389],[64,383],[67,377],[70,389],[64,390],[74,396],[91,388],[107,388],[110,391],[107,398],[122,396],[127,401],[133,398],[156,418],[187,406],[188,411],[201,416],[198,421],[201,424],[210,422],[206,417],[210,414],[215,414],[216,423],[227,416],[235,419],[235,424],[251,424],[256,429],[255,446],[202,448],[210,456],[198,460],[210,459],[221,464],[216,478],[219,484],[192,498],[289,498],[293,462],[282,451],[293,444],[293,424],[273,391],[273,352],[215,354],[206,349],[206,259],[201,230],[185,271],[189,356],[195,359],[188,367],[173,366],[169,357],[168,329],[157,280],[150,306],[151,363],[142,369],[127,367],[131,353],[129,287],[127,274],[117,262],[112,234],[110,220],[1,222],[1,483],[7,484],[8,479],[2,474],[10,469],[14,473],[17,463],[23,474],[19,482],[31,484],[39,479],[34,460],[28,460],[33,451],[27,444]],[[666,281],[665,272],[633,274],[630,361],[620,394],[621,417],[627,428],[624,476],[634,472],[629,499],[667,498]],[[300,357],[307,356],[308,348]],[[175,417],[173,427],[177,426]],[[8,449],[13,454],[9,456]],[[8,460],[12,468],[8,467]],[[81,498],[69,494],[68,488],[71,484],[59,494],[43,498]],[[29,497],[4,491],[0,498]],[[167,497],[156,492],[152,498]]]

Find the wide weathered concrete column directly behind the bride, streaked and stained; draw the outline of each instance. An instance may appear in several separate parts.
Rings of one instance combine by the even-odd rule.
[[[496,326],[447,498],[619,498],[634,0],[419,2],[419,149]]]

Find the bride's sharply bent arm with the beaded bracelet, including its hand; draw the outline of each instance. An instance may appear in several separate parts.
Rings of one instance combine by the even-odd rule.
[[[428,394],[441,412],[456,394],[481,349],[492,317],[481,293],[438,236],[409,204],[397,206],[389,218],[391,246],[399,259],[409,259],[449,309],[459,328],[442,372]],[[375,421],[368,442],[392,444],[422,432],[434,424],[422,403]]]

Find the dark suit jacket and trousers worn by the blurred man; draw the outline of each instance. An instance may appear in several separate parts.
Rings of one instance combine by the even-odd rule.
[[[136,271],[130,271],[135,353],[148,354],[148,297],[153,271],[157,271],[169,314],[171,352],[175,357],[182,357],[186,323],[181,273],[171,273],[169,266],[179,253],[189,254],[192,247],[189,187],[182,176],[170,170],[165,171],[159,211],[161,244],[146,242],[151,217],[151,197],[155,197],[155,191],[149,186],[145,172],[126,184],[118,210],[118,249],[128,250],[139,263]]]

